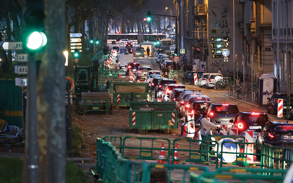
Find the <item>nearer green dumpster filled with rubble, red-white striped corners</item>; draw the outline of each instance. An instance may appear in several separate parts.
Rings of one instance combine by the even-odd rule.
[[[129,129],[161,130],[169,133],[178,129],[176,102],[130,102]]]

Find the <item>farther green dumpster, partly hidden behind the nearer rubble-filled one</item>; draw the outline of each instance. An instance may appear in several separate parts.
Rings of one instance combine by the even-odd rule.
[[[130,101],[150,101],[149,83],[113,83],[115,106],[129,106]]]

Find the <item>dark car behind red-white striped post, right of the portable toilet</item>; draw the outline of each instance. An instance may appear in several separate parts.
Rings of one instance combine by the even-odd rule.
[[[293,96],[291,96],[293,97]],[[278,111],[278,99],[283,99],[283,114],[287,114],[287,94],[285,93],[274,93],[271,98],[268,98],[267,112],[277,114]],[[290,103],[290,110],[293,107],[293,103]]]

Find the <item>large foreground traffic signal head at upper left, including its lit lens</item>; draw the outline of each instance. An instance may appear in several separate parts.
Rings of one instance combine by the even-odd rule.
[[[44,0],[23,0],[23,43],[28,51],[37,51],[47,44],[44,31]]]

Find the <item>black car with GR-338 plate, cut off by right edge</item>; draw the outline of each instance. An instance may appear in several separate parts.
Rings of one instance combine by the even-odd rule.
[[[260,132],[256,137],[257,143],[293,148],[293,123],[268,121],[263,129],[255,131]],[[257,153],[260,153],[260,150],[261,148],[256,146]]]

